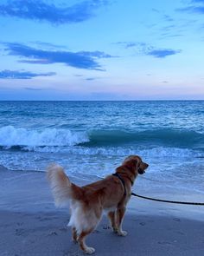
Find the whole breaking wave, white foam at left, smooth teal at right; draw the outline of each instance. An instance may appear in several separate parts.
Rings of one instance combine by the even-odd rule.
[[[70,131],[63,128],[0,128],[0,148],[35,150],[35,148],[80,146],[82,148],[203,148],[204,134],[175,129],[152,129],[137,132],[121,130]]]

